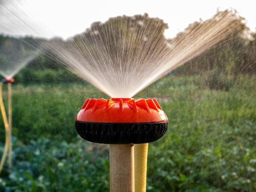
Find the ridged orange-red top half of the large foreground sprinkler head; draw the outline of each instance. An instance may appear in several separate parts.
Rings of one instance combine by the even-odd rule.
[[[156,123],[168,121],[155,99],[87,99],[76,121],[93,123]]]

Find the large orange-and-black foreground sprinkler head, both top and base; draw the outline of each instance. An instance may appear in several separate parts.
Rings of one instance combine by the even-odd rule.
[[[155,99],[87,99],[76,116],[85,140],[105,144],[150,143],[161,138],[168,119]]]

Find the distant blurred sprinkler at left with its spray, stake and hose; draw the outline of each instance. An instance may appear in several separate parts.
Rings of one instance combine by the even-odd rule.
[[[9,158],[8,167],[12,167],[12,83],[14,76],[27,64],[29,64],[40,53],[40,45],[34,45],[29,40],[20,40],[15,38],[6,38],[0,45],[0,75],[4,77],[1,81],[1,100],[2,100],[2,85],[8,85],[8,120],[5,120],[6,113],[4,104],[1,104],[1,113],[4,120],[5,130],[8,132],[6,135],[6,144],[8,145]],[[1,160],[0,172],[5,161],[7,147],[4,146],[4,154]]]

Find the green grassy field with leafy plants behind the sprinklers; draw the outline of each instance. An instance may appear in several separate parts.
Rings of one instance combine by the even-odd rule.
[[[170,76],[134,96],[157,98],[169,121],[149,144],[148,192],[256,190],[255,82],[241,75],[226,91],[203,76]],[[109,191],[108,145],[74,128],[87,98],[108,96],[81,82],[13,85],[13,168],[4,166],[0,191]],[[2,118],[0,127],[2,154]]]

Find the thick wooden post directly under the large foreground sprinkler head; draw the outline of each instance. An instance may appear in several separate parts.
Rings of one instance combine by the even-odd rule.
[[[110,144],[110,192],[134,192],[133,144]]]

